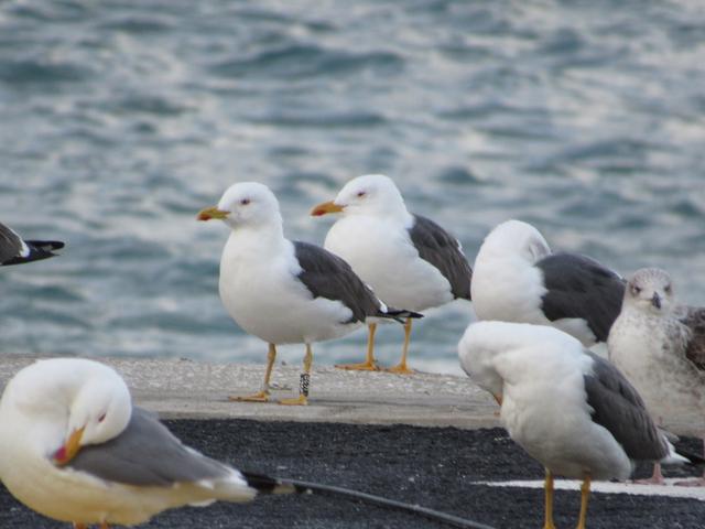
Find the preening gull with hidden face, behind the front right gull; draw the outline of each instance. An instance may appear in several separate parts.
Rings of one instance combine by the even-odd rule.
[[[536,228],[512,219],[485,238],[471,292],[479,320],[552,325],[589,347],[607,341],[625,284],[589,257],[553,253]]]

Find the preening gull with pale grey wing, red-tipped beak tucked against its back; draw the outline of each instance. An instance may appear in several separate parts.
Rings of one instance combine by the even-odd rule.
[[[133,526],[185,505],[304,492],[185,446],[133,407],[122,378],[80,358],[39,360],[0,400],[0,479],[31,509],[85,529]]]

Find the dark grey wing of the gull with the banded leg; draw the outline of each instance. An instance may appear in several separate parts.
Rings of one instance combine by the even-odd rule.
[[[294,241],[296,259],[302,268],[299,279],[314,298],[341,302],[352,311],[348,322],[365,322],[381,314],[381,303],[375,293],[341,258],[308,242]]]

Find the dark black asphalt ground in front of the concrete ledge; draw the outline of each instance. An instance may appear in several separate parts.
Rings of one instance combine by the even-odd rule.
[[[503,430],[377,427],[245,420],[166,421],[187,444],[239,468],[338,485],[438,509],[497,528],[540,528],[543,492],[471,485],[477,481],[542,478],[542,467]],[[698,453],[699,442],[685,446]],[[648,475],[648,466],[640,474]],[[697,471],[666,471],[696,475]],[[577,492],[557,492],[556,526],[575,527]],[[54,529],[0,486],[0,528]],[[156,516],[148,528],[442,528],[417,515],[330,496],[262,496],[252,504],[215,504]],[[588,527],[703,528],[705,503],[594,494]]]

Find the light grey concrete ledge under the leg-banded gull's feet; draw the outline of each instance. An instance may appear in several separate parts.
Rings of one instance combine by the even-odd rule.
[[[36,357],[0,357],[0,386]],[[257,419],[263,421],[413,424],[491,428],[497,404],[468,378],[419,373],[354,373],[315,368],[310,404],[230,402],[230,395],[257,391],[264,365],[205,364],[187,359],[99,358],[126,379],[135,403],[165,419]],[[276,365],[273,399],[294,397],[299,366]]]

